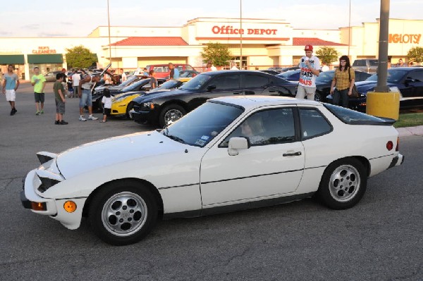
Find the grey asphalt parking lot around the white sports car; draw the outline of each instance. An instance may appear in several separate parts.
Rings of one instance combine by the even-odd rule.
[[[116,247],[86,221],[67,230],[24,209],[21,180],[38,166],[37,151],[154,127],[114,118],[80,122],[78,99],[66,102],[69,124],[54,125],[51,86],[39,116],[29,84],[18,89],[16,115],[0,96],[1,280],[423,280],[422,136],[400,139],[405,163],[369,179],[354,208],[332,211],[306,199],[165,220],[142,242]]]

